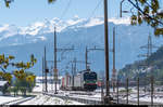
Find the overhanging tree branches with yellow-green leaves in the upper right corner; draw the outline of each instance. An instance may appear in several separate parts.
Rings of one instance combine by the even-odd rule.
[[[127,0],[134,8],[131,25],[141,25],[146,22],[154,28],[154,35],[163,35],[163,14],[160,14],[159,0]]]

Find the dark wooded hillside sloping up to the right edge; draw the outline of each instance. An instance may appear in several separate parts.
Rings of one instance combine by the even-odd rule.
[[[147,66],[147,64],[149,66]],[[134,64],[126,65],[120,70],[118,79],[124,81],[126,76],[128,76],[130,80],[136,80],[139,76],[140,82],[142,82],[146,75],[148,79],[150,79],[151,75],[153,75],[154,80],[158,81],[156,83],[163,84],[163,46],[152,53],[149,58],[136,61]]]

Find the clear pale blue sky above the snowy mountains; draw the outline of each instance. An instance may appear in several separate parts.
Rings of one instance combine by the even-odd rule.
[[[70,9],[62,19],[72,18],[74,15],[89,17],[93,9],[101,0],[72,0]],[[102,0],[103,1],[103,0]],[[58,0],[53,4],[48,4],[47,0],[14,0],[10,9],[4,6],[0,0],[0,24],[15,24],[26,26],[37,21],[53,17],[61,18],[70,0]],[[109,0],[109,17],[117,17],[120,11],[120,0]],[[93,16],[103,16],[103,2],[96,10]]]

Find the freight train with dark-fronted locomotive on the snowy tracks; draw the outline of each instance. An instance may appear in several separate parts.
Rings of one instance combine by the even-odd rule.
[[[83,70],[76,76],[66,73],[61,80],[61,90],[93,91],[97,89],[97,72]]]

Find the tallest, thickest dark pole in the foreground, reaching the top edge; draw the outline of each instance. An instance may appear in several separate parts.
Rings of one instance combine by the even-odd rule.
[[[104,0],[104,51],[105,51],[105,85],[106,93],[104,104],[111,104],[110,101],[110,73],[109,73],[109,34],[108,34],[108,0]]]

